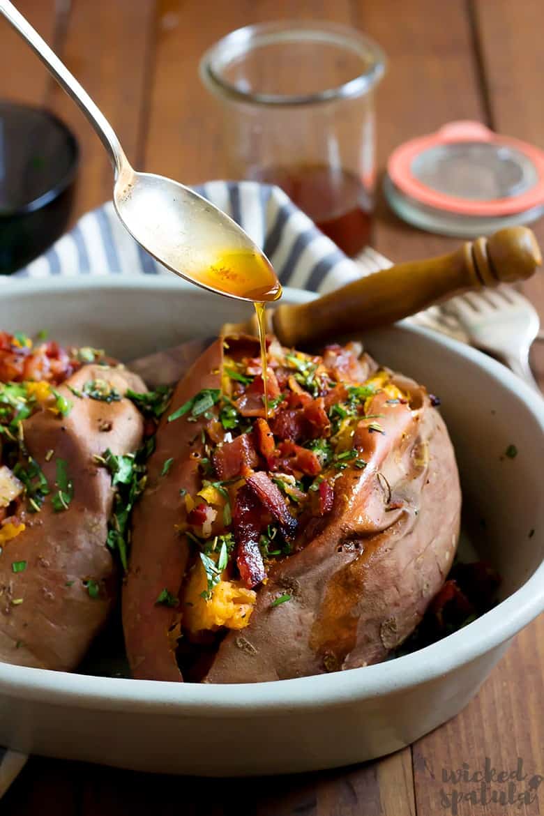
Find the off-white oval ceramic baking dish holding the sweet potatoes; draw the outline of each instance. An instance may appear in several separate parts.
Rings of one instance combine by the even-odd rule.
[[[0,326],[48,329],[124,360],[213,335],[249,314],[175,277],[2,282]],[[285,300],[312,295],[285,291]],[[443,641],[377,666],[255,685],[189,685],[0,664],[0,744],[183,774],[276,774],[395,751],[455,715],[511,637],[544,609],[544,401],[471,348],[411,326],[364,335],[370,353],[440,395],[474,543],[502,602]],[[518,455],[504,456],[515,445]]]

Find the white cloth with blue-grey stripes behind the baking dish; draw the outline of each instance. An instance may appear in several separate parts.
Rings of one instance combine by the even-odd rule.
[[[391,265],[371,248],[356,259],[347,258],[280,188],[250,181],[210,181],[196,189],[241,224],[263,248],[283,286],[325,294]],[[130,237],[111,202],[83,215],[71,232],[15,273],[29,278],[161,274],[170,273]],[[0,286],[6,280],[0,277]],[[411,319],[466,339],[454,318],[440,308],[427,309]],[[0,747],[0,797],[26,759],[24,754]]]

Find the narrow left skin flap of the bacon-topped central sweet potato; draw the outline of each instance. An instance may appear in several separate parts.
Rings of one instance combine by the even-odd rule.
[[[178,596],[188,561],[188,545],[176,526],[187,517],[180,490],[199,489],[200,439],[204,421],[172,415],[201,388],[220,388],[223,345],[217,340],[180,381],[157,428],[157,445],[148,460],[148,481],[132,519],[130,567],[122,593],[122,618],[130,669],[140,680],[181,681],[175,659],[175,626],[179,610],[157,605],[163,589]],[[174,459],[168,478],[161,477],[167,459]],[[169,636],[174,632],[174,636]]]

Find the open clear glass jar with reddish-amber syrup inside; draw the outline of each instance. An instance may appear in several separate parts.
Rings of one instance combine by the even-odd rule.
[[[228,34],[201,60],[223,103],[225,175],[278,184],[356,255],[369,242],[384,69],[381,48],[343,25],[289,20]]]

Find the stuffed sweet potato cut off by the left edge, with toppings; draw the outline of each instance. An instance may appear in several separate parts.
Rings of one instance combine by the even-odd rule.
[[[104,626],[118,588],[106,546],[112,477],[95,457],[140,446],[144,419],[123,395],[146,388],[122,367],[83,365],[63,381],[81,363],[51,373],[45,354],[28,354],[18,371],[17,356],[2,361],[19,382],[2,385],[0,398],[11,490],[0,495],[0,660],[69,671]],[[38,381],[26,379],[33,375]],[[30,415],[19,422],[22,409]]]

